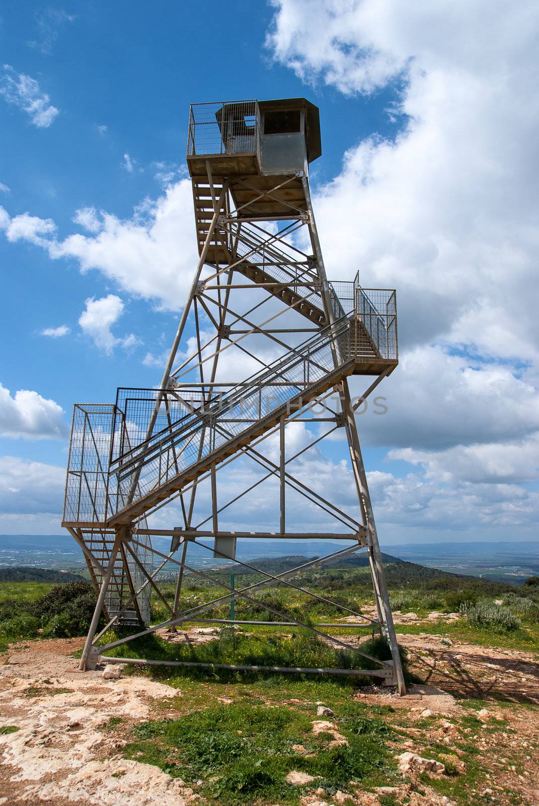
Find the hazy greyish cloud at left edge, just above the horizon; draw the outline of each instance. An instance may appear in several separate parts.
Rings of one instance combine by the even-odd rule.
[[[59,513],[64,485],[64,467],[0,456],[0,513],[17,513],[15,520],[24,514]]]

